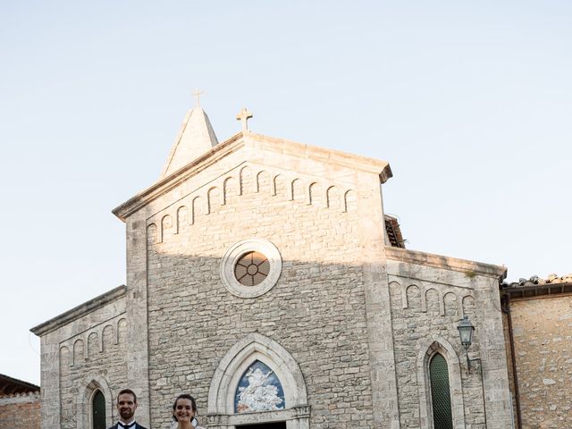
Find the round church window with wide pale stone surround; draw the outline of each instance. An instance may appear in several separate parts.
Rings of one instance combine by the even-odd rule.
[[[221,262],[224,287],[241,298],[256,298],[278,282],[282,257],[268,240],[247,239],[229,248]]]

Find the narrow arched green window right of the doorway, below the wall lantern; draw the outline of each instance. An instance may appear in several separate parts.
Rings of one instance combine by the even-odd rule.
[[[435,429],[453,429],[453,417],[450,408],[449,367],[439,353],[429,362],[431,378],[431,400],[433,405],[433,427]]]

